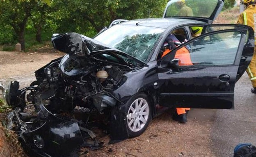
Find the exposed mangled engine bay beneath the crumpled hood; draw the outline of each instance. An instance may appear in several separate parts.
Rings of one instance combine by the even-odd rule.
[[[36,88],[31,89],[27,101],[36,104],[43,100],[50,111],[71,111],[75,106],[81,106],[103,112],[118,101],[111,92],[126,80],[123,74],[131,69],[97,64],[76,64],[71,70],[71,63],[63,64],[60,60],[48,64],[36,71],[37,81],[31,84]],[[62,66],[65,66],[64,70]],[[71,71],[74,71],[72,75],[66,75]]]

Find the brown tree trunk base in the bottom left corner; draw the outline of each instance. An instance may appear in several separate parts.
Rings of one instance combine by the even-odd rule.
[[[0,157],[11,157],[11,149],[6,141],[5,131],[0,123]]]

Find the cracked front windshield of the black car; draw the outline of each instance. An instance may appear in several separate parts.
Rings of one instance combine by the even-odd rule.
[[[119,49],[146,62],[165,29],[117,24],[97,35],[94,40]]]

